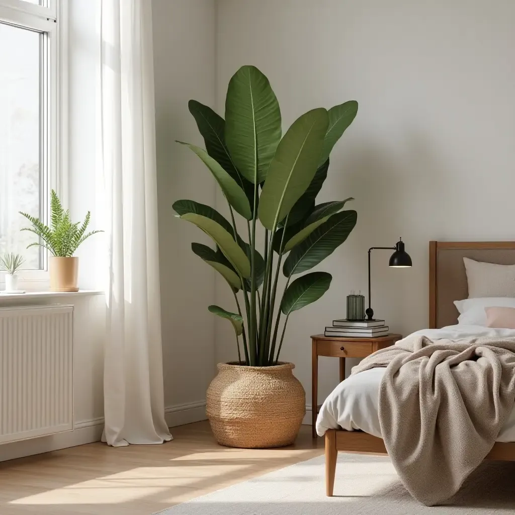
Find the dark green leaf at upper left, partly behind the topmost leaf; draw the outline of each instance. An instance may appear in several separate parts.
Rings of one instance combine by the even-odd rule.
[[[190,113],[193,114],[197,127],[204,138],[208,154],[218,161],[222,168],[242,187],[250,202],[254,197],[254,185],[243,177],[234,165],[225,142],[225,120],[209,106],[204,106],[197,100],[188,102]]]

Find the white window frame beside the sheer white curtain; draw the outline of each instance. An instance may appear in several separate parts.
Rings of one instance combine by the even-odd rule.
[[[43,80],[41,103],[47,109],[43,116],[41,164],[45,167],[41,187],[41,213],[44,222],[49,218],[50,189],[67,204],[67,124],[68,124],[68,66],[67,66],[67,3],[68,0],[45,0],[45,6],[25,0],[0,0],[0,22],[45,32],[47,44],[42,52]],[[46,129],[46,130],[45,130]],[[48,252],[43,251],[43,268],[21,270],[20,287],[27,290],[42,290],[48,287]],[[4,289],[5,272],[0,274],[0,289]]]

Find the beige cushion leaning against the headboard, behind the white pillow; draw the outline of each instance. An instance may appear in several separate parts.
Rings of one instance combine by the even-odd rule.
[[[515,297],[515,265],[495,265],[463,258],[469,299],[478,297]]]

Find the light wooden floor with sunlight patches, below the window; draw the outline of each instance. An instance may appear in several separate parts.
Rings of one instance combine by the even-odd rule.
[[[174,427],[163,445],[100,442],[0,463],[0,515],[150,515],[193,497],[323,453],[302,426],[295,445],[230,449],[208,422]]]

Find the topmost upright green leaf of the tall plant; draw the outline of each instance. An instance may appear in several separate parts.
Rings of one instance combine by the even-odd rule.
[[[253,184],[263,182],[281,139],[281,111],[270,82],[255,66],[242,66],[231,78],[225,116],[236,168]]]

